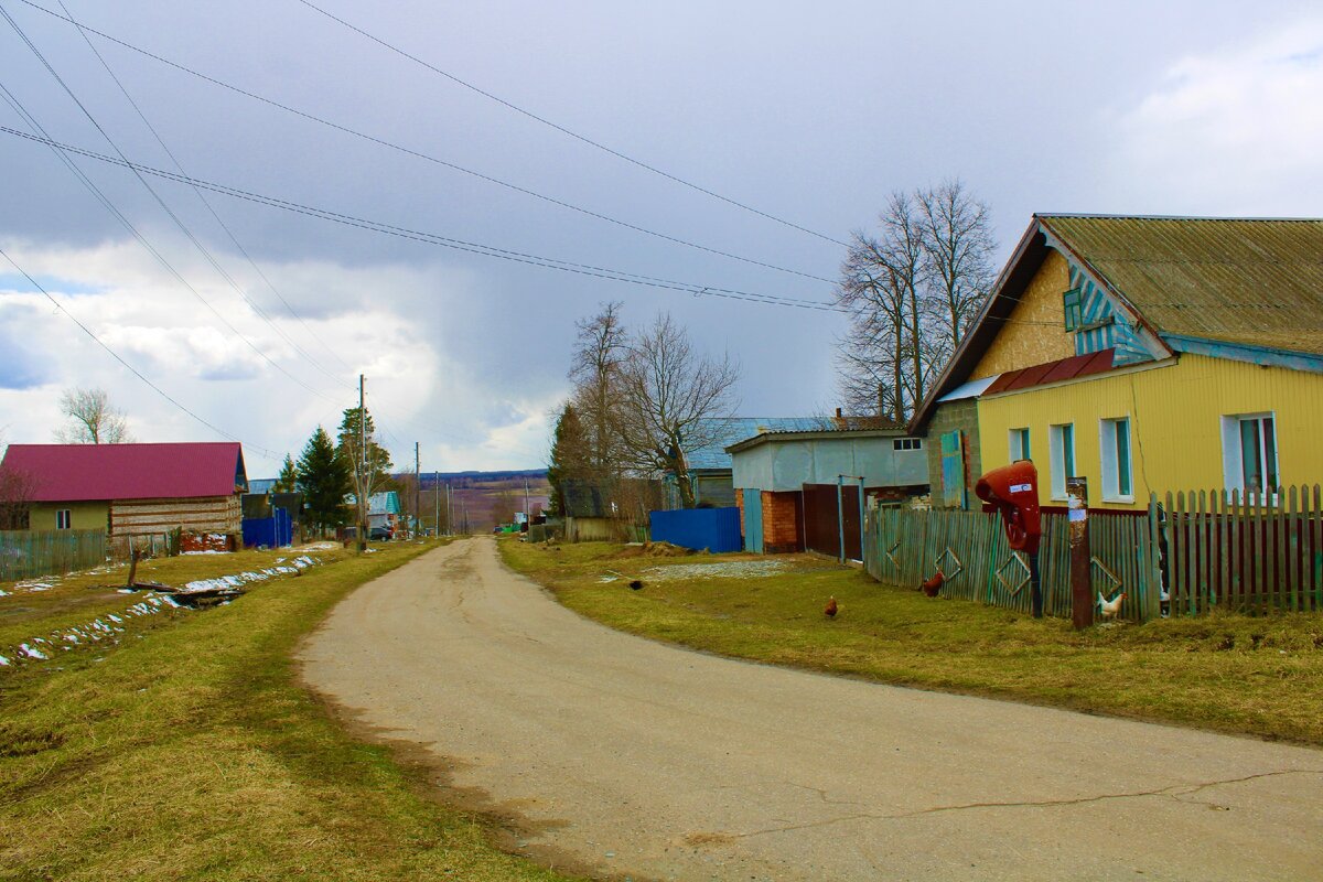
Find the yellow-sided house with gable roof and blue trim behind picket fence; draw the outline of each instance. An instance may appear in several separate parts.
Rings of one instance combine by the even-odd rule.
[[[1046,508],[1323,481],[1323,221],[1035,216],[923,428],[938,505],[1016,459]]]

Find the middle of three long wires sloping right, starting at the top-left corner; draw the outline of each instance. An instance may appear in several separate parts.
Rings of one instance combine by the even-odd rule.
[[[683,238],[675,237],[675,235],[669,235],[667,233],[659,233],[656,230],[650,230],[650,229],[647,229],[644,226],[639,226],[636,223],[630,223],[628,221],[622,221],[622,220],[614,218],[614,217],[611,217],[609,214],[602,214],[601,212],[594,212],[593,209],[582,208],[579,205],[574,205],[573,202],[566,202],[566,201],[558,200],[558,198],[556,198],[553,196],[546,196],[544,193],[538,193],[538,192],[528,189],[525,186],[520,186],[519,184],[512,184],[509,181],[504,181],[504,180],[501,180],[499,177],[493,177],[491,175],[486,175],[483,172],[478,172],[478,171],[474,171],[471,168],[466,168],[463,165],[459,165],[456,163],[451,163],[448,160],[439,159],[439,157],[433,156],[430,153],[425,153],[422,151],[417,151],[417,149],[413,149],[413,148],[409,148],[409,147],[404,147],[401,144],[396,144],[393,141],[385,140],[382,138],[377,138],[374,135],[368,135],[366,132],[361,132],[361,131],[359,131],[356,128],[351,128],[348,126],[343,126],[340,123],[331,122],[331,120],[328,120],[325,118],[318,116],[316,114],[311,114],[311,112],[307,112],[307,111],[303,111],[303,110],[298,110],[296,107],[291,107],[288,104],[283,104],[283,103],[280,103],[278,100],[274,100],[271,98],[266,98],[263,95],[259,95],[257,93],[249,91],[246,89],[241,89],[238,86],[226,83],[226,82],[224,82],[221,79],[217,79],[214,77],[209,77],[209,75],[206,75],[204,73],[193,70],[192,67],[181,65],[181,63],[179,63],[176,61],[171,61],[169,58],[164,58],[164,57],[157,56],[157,54],[155,54],[152,52],[148,52],[146,49],[135,46],[135,45],[132,45],[130,42],[119,40],[116,37],[111,37],[110,34],[103,33],[101,30],[97,30],[95,28],[90,28],[90,26],[87,26],[87,25],[77,21],[71,16],[61,16],[60,13],[57,13],[57,12],[54,12],[52,9],[46,9],[45,7],[41,7],[41,5],[36,4],[36,3],[32,3],[32,0],[22,0],[22,3],[26,3],[29,7],[32,7],[34,9],[40,9],[41,12],[45,12],[46,15],[49,15],[52,17],[60,19],[62,21],[66,21],[66,22],[74,25],[75,28],[79,29],[79,32],[83,33],[83,38],[87,38],[89,33],[94,33],[98,37],[102,37],[103,40],[107,40],[107,41],[114,42],[114,44],[116,44],[119,46],[130,49],[131,52],[136,52],[136,53],[139,53],[142,56],[146,56],[147,58],[151,58],[153,61],[157,61],[157,62],[160,62],[163,65],[168,65],[169,67],[173,67],[173,69],[180,70],[183,73],[187,73],[187,74],[189,74],[192,77],[202,79],[204,82],[212,83],[213,86],[218,86],[221,89],[226,89],[226,90],[229,90],[232,93],[235,93],[238,95],[243,95],[245,98],[250,98],[253,100],[261,102],[261,103],[267,104],[270,107],[275,107],[275,108],[282,110],[284,112],[294,114],[295,116],[300,116],[303,119],[307,119],[310,122],[318,123],[320,126],[325,126],[327,128],[333,128],[333,130],[336,130],[339,132],[344,132],[345,135],[352,135],[355,138],[360,138],[363,140],[370,141],[370,143],[377,144],[380,147],[386,147],[389,149],[398,151],[398,152],[405,153],[407,156],[413,156],[415,159],[421,159],[421,160],[425,160],[425,161],[429,161],[429,163],[434,163],[437,165],[442,165],[445,168],[452,169],[455,172],[460,172],[463,175],[470,175],[470,176],[476,177],[476,179],[479,179],[482,181],[487,181],[488,184],[495,184],[497,186],[503,186],[503,188],[513,190],[516,193],[521,193],[524,196],[529,196],[532,198],[541,200],[541,201],[548,202],[550,205],[556,205],[558,208],[564,208],[564,209],[568,209],[568,210],[572,210],[572,212],[578,212],[579,214],[585,214],[587,217],[591,217],[591,218],[595,218],[595,220],[599,220],[599,221],[605,221],[607,223],[614,223],[617,226],[620,226],[620,227],[624,227],[624,229],[628,229],[628,230],[634,230],[635,233],[643,233],[646,235],[652,235],[652,237],[656,237],[659,239],[663,239],[663,241],[667,241],[667,242],[672,242],[675,245],[683,245],[685,247],[696,249],[699,251],[706,251],[708,254],[716,254],[718,257],[729,258],[732,261],[740,261],[742,263],[749,263],[751,266],[763,267],[766,270],[775,270],[777,272],[787,272],[790,275],[798,275],[798,276],[802,276],[802,278],[806,278],[806,279],[812,279],[815,282],[824,282],[827,284],[833,284],[832,279],[826,279],[823,276],[814,275],[811,272],[802,272],[800,270],[791,270],[789,267],[777,266],[774,263],[767,263],[765,261],[757,261],[754,258],[746,258],[746,257],[742,257],[740,254],[732,254],[729,251],[722,251],[720,249],[713,249],[713,247],[709,247],[709,246],[705,246],[705,245],[699,245],[697,242],[691,242],[688,239],[683,239]],[[67,9],[66,9],[66,12],[67,12]],[[180,171],[183,171],[183,169],[180,169]]]

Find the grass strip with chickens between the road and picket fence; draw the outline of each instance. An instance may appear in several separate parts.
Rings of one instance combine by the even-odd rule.
[[[880,682],[1323,744],[1323,616],[1215,614],[1076,632],[1069,621],[875,582],[791,555],[785,574],[656,581],[638,557],[582,543],[500,543],[505,561],[603,624],[659,640]],[[632,554],[632,557],[622,557]],[[603,583],[607,570],[626,577]],[[626,587],[642,578],[643,590]],[[835,595],[840,614],[822,610]]]

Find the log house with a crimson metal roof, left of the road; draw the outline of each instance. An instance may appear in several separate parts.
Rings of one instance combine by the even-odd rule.
[[[9,444],[4,469],[24,475],[28,529],[106,530],[112,538],[239,533],[247,487],[237,442]]]

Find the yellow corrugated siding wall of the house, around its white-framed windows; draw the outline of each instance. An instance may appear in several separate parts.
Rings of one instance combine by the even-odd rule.
[[[1076,471],[1090,505],[1142,509],[1148,493],[1222,488],[1221,418],[1271,411],[1283,484],[1323,480],[1323,376],[1185,354],[1150,370],[979,399],[983,469],[1009,461],[1008,431],[1028,426],[1040,502],[1050,499],[1048,427],[1074,423]],[[1102,501],[1099,419],[1130,417],[1135,502]]]

